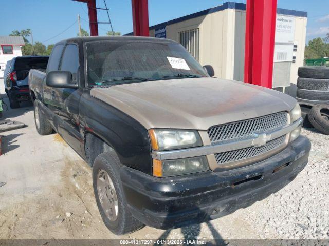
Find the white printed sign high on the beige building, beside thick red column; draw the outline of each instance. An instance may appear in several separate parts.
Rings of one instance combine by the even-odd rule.
[[[296,17],[277,15],[276,43],[294,43]]]

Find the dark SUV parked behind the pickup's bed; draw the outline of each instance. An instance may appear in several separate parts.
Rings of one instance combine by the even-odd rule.
[[[12,59],[5,80],[5,91],[12,109],[20,107],[20,101],[30,99],[28,74],[30,69],[46,70],[48,56],[20,56]]]

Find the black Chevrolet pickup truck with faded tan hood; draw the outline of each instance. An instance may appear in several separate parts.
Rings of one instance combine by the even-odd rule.
[[[38,133],[56,131],[92,167],[113,233],[227,215],[306,166],[293,97],[212,76],[172,40],[128,36],[64,40],[46,73],[30,71]]]

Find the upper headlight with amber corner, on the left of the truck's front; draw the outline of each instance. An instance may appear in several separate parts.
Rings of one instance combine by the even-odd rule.
[[[202,146],[201,138],[194,130],[149,130],[153,150],[173,150]]]

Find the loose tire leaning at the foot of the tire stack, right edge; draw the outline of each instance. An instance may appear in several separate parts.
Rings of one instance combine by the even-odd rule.
[[[309,122],[323,134],[329,135],[329,105],[318,104],[308,114]]]

